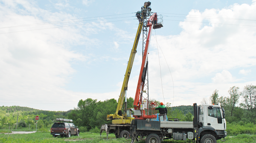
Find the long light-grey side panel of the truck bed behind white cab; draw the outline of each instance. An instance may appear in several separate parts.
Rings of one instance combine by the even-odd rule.
[[[193,129],[193,122],[181,122],[181,121],[160,121],[161,128],[186,128]]]

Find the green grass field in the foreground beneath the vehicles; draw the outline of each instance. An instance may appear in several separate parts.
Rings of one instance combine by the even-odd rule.
[[[0,143],[131,143],[130,140],[116,139],[114,134],[109,134],[108,140],[107,135],[96,133],[80,133],[79,137],[71,136],[66,137],[52,137],[50,132],[37,132],[33,134],[0,134]],[[145,140],[140,140],[137,143],[145,143]],[[164,140],[162,143],[189,143],[187,141],[179,140]],[[191,141],[191,143],[193,143]],[[217,143],[222,143],[220,140]],[[239,134],[233,137],[226,137],[224,143],[256,143],[256,135],[251,134]]]

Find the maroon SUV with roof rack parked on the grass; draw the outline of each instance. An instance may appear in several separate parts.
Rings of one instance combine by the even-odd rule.
[[[71,135],[79,136],[79,129],[73,123],[58,122],[52,125],[51,134],[52,137],[70,137]]]

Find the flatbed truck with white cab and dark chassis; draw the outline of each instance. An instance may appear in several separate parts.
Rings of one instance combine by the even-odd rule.
[[[220,105],[194,106],[192,122],[134,119],[131,123],[131,143],[146,137],[146,143],[161,143],[166,139],[194,140],[195,143],[217,143],[227,136],[225,110]]]

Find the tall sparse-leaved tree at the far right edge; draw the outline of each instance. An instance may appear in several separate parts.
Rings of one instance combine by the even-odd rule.
[[[244,86],[241,95],[244,98],[244,103],[242,104],[244,108],[253,112],[253,109],[256,107],[256,86],[252,84]]]

